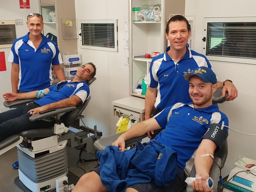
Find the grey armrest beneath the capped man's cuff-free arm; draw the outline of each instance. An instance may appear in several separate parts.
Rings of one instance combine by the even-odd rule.
[[[98,151],[104,151],[104,149],[106,148],[106,146],[109,146],[109,145],[112,145],[112,143],[117,140],[117,138],[122,135],[124,132],[121,132],[121,133],[116,133],[116,134],[113,134],[113,135],[109,135],[109,136],[106,136],[106,137],[102,137],[98,140],[96,140],[94,142],[94,147],[96,148],[96,150]],[[130,140],[126,140],[125,141],[125,147],[129,147],[133,144],[135,144],[135,142],[137,140],[141,140],[143,138],[147,137],[147,134],[145,135],[142,135],[140,137],[135,137],[135,138],[132,138]]]

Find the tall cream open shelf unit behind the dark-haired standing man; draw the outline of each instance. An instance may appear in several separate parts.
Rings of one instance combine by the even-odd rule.
[[[161,4],[161,21],[132,21],[132,7]],[[152,58],[141,55],[152,52],[163,53],[167,48],[165,26],[171,14],[184,14],[185,0],[130,0],[129,2],[129,66],[130,66],[130,94],[137,87],[139,78],[144,78],[149,72]],[[139,57],[138,57],[139,56]]]

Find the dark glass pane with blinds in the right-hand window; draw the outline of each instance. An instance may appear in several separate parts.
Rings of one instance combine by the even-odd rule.
[[[208,23],[206,55],[256,58],[256,22]]]

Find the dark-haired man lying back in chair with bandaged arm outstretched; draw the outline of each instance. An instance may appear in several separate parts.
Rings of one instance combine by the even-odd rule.
[[[55,120],[31,122],[29,118],[37,113],[44,113],[45,111],[62,107],[77,106],[85,102],[90,94],[86,81],[93,78],[95,74],[95,65],[87,63],[77,70],[76,76],[72,81],[61,81],[57,85],[44,90],[3,94],[7,102],[30,98],[40,99],[16,109],[0,113],[0,141],[24,130],[53,126],[56,123]]]

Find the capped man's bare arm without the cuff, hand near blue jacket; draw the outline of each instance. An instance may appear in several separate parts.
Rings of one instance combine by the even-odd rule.
[[[120,151],[124,151],[125,147],[125,141],[129,140],[134,137],[139,137],[141,135],[144,135],[145,133],[151,131],[160,129],[160,125],[156,121],[154,117],[145,120],[143,122],[140,122],[138,124],[135,124],[130,129],[128,129],[126,132],[124,132],[122,135],[120,135],[115,142],[113,142],[112,145],[118,146]]]

